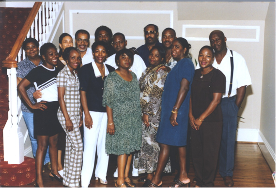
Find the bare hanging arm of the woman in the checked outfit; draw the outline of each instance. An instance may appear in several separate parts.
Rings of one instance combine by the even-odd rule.
[[[64,94],[65,94],[65,88],[60,88],[58,87],[58,99],[61,107],[61,111],[63,113],[63,116],[65,118],[65,125],[66,125],[66,130],[68,132],[71,132],[73,130],[73,123],[69,117],[68,111],[66,109],[66,104],[64,101]]]

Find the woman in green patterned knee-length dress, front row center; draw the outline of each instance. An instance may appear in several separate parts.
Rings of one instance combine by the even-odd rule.
[[[107,108],[106,153],[118,155],[118,179],[115,187],[136,187],[128,173],[132,155],[142,144],[142,112],[140,89],[136,75],[129,71],[133,53],[129,49],[117,52],[118,69],[105,80],[103,106]]]

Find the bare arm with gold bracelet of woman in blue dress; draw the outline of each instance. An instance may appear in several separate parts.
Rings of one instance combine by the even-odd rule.
[[[190,82],[185,78],[183,78],[182,81],[180,82],[180,89],[174,105],[177,109],[181,107],[183,101],[185,100],[188,94],[188,91],[190,89],[189,84]],[[171,113],[169,120],[172,126],[178,125],[178,123],[176,122],[176,118],[177,118],[177,113]]]

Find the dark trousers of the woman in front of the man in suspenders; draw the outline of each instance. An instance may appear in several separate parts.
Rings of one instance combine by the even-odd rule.
[[[197,186],[214,187],[223,122],[203,122],[191,128],[191,150]]]

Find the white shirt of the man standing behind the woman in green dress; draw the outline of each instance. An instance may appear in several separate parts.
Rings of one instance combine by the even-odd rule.
[[[110,56],[109,58],[107,58],[107,61],[105,63],[117,69],[118,66],[116,65],[116,62],[115,62],[115,56],[116,56],[116,53]],[[142,76],[142,73],[144,72],[144,70],[146,70],[146,68],[147,67],[143,59],[139,55],[135,54],[133,65],[130,68],[130,70],[136,74],[138,80]]]

